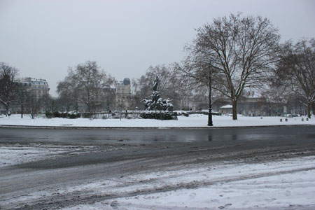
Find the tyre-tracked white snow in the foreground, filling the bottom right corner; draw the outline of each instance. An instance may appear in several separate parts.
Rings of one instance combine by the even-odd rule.
[[[314,156],[256,165],[223,162],[221,165],[190,167],[78,186],[76,190],[90,188],[97,189],[98,193],[138,191],[142,194],[144,191],[144,194],[64,210],[315,208]],[[125,184],[122,186],[121,183]],[[109,186],[116,188],[109,190]],[[183,189],[145,193],[148,189],[152,192],[162,188],[172,189],[172,186],[183,186]]]

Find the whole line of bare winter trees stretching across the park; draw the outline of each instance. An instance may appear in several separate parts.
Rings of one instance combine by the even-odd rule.
[[[237,120],[237,102],[255,90],[269,101],[299,97],[306,102],[311,117],[311,110],[315,111],[314,38],[281,44],[279,31],[270,20],[241,13],[214,18],[196,31],[196,37],[184,48],[186,56],[181,62],[149,66],[143,76],[132,79],[128,109],[143,107],[141,99],[151,97],[153,80],[158,76],[158,91],[163,98],[172,99],[175,109],[181,109],[186,99],[223,97],[230,100],[232,118]],[[0,64],[0,103],[6,110],[13,101],[23,101],[21,91],[16,94],[17,78],[18,69]],[[57,84],[59,97],[55,101],[46,96],[41,104],[49,110],[78,111],[83,104],[89,113],[109,111],[119,105],[111,91],[115,83],[96,62],[87,61],[69,68],[68,75]],[[36,110],[38,103],[28,97],[28,104],[34,104],[29,106]]]

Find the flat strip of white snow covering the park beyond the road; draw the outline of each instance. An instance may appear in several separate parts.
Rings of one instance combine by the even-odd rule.
[[[282,122],[280,121],[282,119]],[[230,116],[213,116],[214,127],[241,127],[241,126],[267,126],[267,125],[315,125],[314,116],[306,120],[305,117],[245,117],[238,116],[232,120]],[[302,119],[304,121],[302,121]],[[178,120],[151,120],[151,119],[95,119],[86,118],[36,118],[29,116],[20,118],[13,115],[0,118],[0,125],[26,125],[26,126],[55,126],[55,127],[207,127],[208,116],[193,114],[189,117],[179,116]]]

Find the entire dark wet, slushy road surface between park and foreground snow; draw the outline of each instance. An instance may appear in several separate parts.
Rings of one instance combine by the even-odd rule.
[[[137,195],[137,192],[97,195],[78,190],[40,198],[30,196],[98,180],[163,172],[206,162],[255,163],[315,154],[314,126],[158,130],[0,128],[0,133],[3,147],[16,144],[71,146],[68,153],[55,158],[1,167],[0,200],[4,204],[0,203],[0,209],[57,209]],[[71,148],[76,146],[94,147],[71,153]]]

